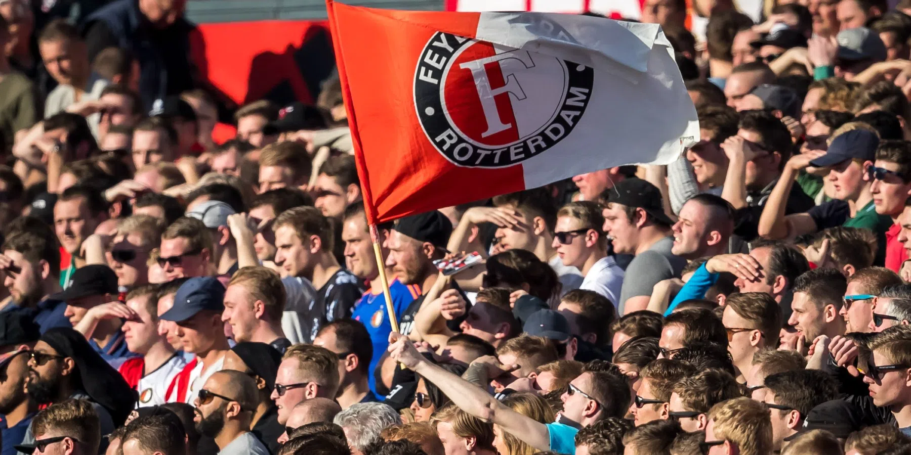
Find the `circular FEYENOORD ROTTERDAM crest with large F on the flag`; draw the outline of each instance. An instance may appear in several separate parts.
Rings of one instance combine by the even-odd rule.
[[[415,109],[456,166],[507,167],[568,136],[593,83],[590,66],[437,32],[415,71]]]

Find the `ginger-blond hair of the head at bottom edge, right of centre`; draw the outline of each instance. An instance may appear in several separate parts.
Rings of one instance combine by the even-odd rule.
[[[742,455],[772,453],[772,421],[769,409],[754,399],[736,398],[711,407],[709,419],[718,440],[737,444]]]

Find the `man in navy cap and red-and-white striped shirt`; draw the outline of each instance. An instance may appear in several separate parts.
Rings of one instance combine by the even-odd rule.
[[[189,278],[174,295],[174,306],[159,316],[169,321],[170,335],[180,339],[183,350],[196,354],[171,380],[168,401],[192,403],[202,384],[224,367],[230,350],[221,321],[224,295],[225,288],[216,278]]]

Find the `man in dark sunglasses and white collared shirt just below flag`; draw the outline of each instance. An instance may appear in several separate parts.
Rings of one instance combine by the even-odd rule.
[[[600,212],[601,207],[590,201],[570,202],[560,207],[551,246],[556,248],[564,266],[577,268],[585,277],[579,288],[598,292],[611,302],[618,302],[623,286],[623,269],[613,255],[608,254],[609,241],[601,231],[604,217]]]

